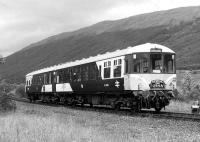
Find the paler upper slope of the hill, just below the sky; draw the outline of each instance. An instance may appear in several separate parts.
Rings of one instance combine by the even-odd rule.
[[[49,37],[28,47],[53,42],[54,40],[66,39],[70,36],[100,34],[103,32],[137,30],[157,26],[173,27],[184,22],[190,22],[200,17],[200,7],[184,7],[166,11],[159,11],[147,14],[131,16],[115,21],[103,21],[89,27],[81,28],[74,32],[65,32]]]

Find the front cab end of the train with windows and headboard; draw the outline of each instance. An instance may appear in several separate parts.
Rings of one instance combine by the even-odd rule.
[[[127,55],[124,87],[140,96],[141,108],[165,108],[176,89],[175,53],[152,48]]]

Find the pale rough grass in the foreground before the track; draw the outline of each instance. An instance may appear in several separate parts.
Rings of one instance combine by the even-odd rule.
[[[200,141],[200,124],[17,103],[0,115],[3,142]]]

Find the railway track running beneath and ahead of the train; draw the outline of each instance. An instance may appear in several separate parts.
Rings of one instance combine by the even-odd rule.
[[[9,96],[10,99],[19,101],[19,102],[24,102],[24,103],[30,103],[28,99],[25,98],[17,98],[14,96]],[[48,105],[52,107],[58,107],[58,106],[64,106],[63,104],[49,104],[49,103],[42,103],[40,101],[34,102],[32,104],[37,104],[37,105]],[[130,109],[127,108],[122,108],[120,110],[113,110],[110,107],[106,106],[93,106],[90,107],[89,105],[84,105],[83,106],[68,106],[68,108],[73,108],[77,110],[86,110],[86,111],[95,111],[95,112],[103,112],[103,113],[114,113],[117,115],[126,115],[130,117],[152,117],[152,118],[158,118],[158,119],[173,119],[173,120],[186,120],[186,121],[200,121],[200,114],[190,114],[190,113],[175,113],[175,112],[160,112],[160,113],[155,113],[155,111],[151,110],[142,110],[140,113],[133,113],[130,111]],[[55,111],[55,113],[61,113],[59,111]]]

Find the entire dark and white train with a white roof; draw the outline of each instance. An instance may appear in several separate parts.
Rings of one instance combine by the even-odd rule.
[[[171,49],[146,43],[33,71],[25,90],[31,102],[160,111],[176,89],[175,58]]]

